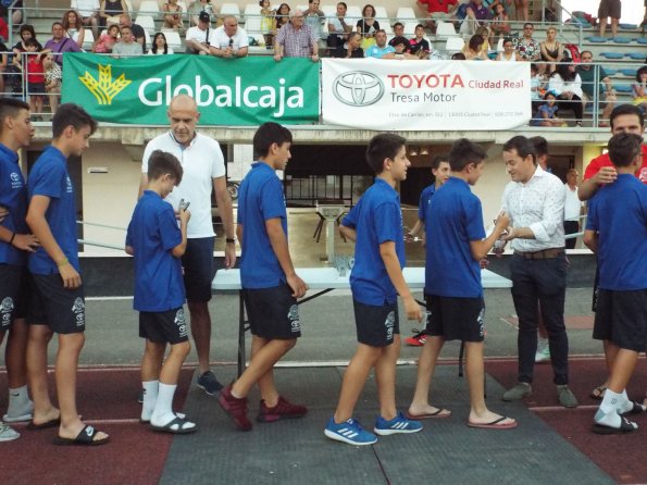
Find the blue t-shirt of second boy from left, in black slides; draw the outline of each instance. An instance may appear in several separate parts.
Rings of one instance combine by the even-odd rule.
[[[67,173],[65,156],[61,150],[52,146],[46,147],[29,173],[27,188],[29,201],[34,196],[50,198],[45,219],[70,264],[76,271],[80,271],[74,187]],[[59,273],[57,263],[42,247],[29,254],[29,271],[34,274]]]

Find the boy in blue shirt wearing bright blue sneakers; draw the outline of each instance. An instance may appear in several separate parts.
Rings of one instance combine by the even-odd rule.
[[[422,310],[405,277],[405,235],[400,197],[396,185],[407,178],[411,163],[406,140],[380,134],[369,142],[366,161],[375,183],[364,192],[339,227],[356,241],[350,288],[354,307],[358,348],[344,374],[335,414],[324,434],[349,445],[372,445],[377,437],[353,418],[354,407],[372,368],[375,368],[380,415],[373,431],[378,435],[415,433],[422,430],[396,409],[396,361],[400,353],[398,294],[409,320],[422,320]]]

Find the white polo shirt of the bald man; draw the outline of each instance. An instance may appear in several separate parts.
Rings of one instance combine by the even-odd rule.
[[[191,202],[191,219],[187,227],[187,237],[196,239],[212,237],[211,190],[213,178],[225,176],[225,160],[220,144],[212,138],[196,133],[188,147],[183,147],[171,132],[157,136],[148,142],[141,159],[141,173],[148,172],[148,159],[154,150],[174,154],[182,163],[184,174],[182,183],[166,196],[166,201],[177,210],[181,199]]]

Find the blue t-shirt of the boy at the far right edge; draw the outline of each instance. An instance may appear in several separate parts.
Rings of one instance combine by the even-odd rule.
[[[618,175],[589,201],[586,228],[599,233],[599,287],[647,289],[647,185]]]

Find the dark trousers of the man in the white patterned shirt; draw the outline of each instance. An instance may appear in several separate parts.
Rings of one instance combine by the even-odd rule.
[[[537,351],[537,306],[548,333],[555,384],[569,383],[569,338],[564,325],[567,258],[524,259],[510,262],[512,300],[519,316],[519,382],[532,383]]]

